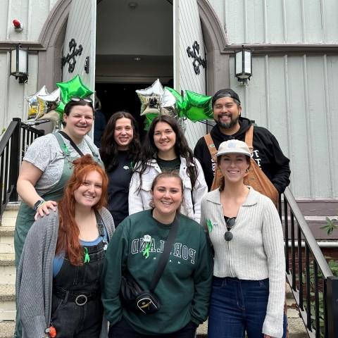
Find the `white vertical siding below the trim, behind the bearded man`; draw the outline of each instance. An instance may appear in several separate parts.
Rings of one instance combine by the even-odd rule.
[[[255,56],[247,87],[234,78],[242,115],[267,127],[291,160],[297,197],[338,197],[338,56]]]

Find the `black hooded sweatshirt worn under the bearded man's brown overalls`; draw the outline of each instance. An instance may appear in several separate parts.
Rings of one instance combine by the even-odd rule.
[[[251,121],[248,118],[239,118],[239,131],[232,135],[225,135],[220,131],[218,125],[213,126],[211,130],[211,138],[216,149],[220,143],[228,139],[239,139],[245,141],[245,132],[251,126]],[[194,156],[199,160],[204,170],[206,184],[208,189],[211,189],[213,176],[215,173],[215,163],[211,158],[210,151],[206,145],[204,137],[201,137],[194,149]],[[278,192],[284,192],[284,189],[289,185],[289,158],[285,157],[280,149],[277,139],[264,127],[253,127],[253,159],[263,170],[265,175],[276,187]]]

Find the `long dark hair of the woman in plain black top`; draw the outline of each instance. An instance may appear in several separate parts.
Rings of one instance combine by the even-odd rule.
[[[117,111],[116,113],[113,113],[108,120],[99,149],[101,159],[104,162],[107,172],[114,170],[118,166],[118,144],[115,142],[114,132],[116,121],[120,118],[128,118],[131,121],[134,136],[128,147],[128,155],[132,162],[136,163],[138,161],[140,143],[137,122],[129,111]]]

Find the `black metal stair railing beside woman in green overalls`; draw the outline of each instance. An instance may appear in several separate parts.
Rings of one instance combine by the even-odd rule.
[[[18,201],[16,181],[25,151],[44,130],[37,130],[32,125],[13,118],[0,140],[0,218],[8,201]]]

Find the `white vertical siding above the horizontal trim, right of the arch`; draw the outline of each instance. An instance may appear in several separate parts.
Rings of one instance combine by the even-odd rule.
[[[337,0],[209,0],[230,44],[338,42]]]

